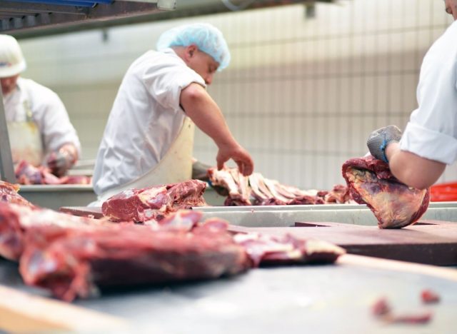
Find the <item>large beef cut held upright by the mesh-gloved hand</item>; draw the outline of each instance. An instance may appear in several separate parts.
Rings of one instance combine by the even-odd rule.
[[[357,203],[366,203],[379,228],[402,228],[416,223],[426,212],[430,189],[418,190],[398,181],[388,164],[373,156],[343,164],[343,177]]]

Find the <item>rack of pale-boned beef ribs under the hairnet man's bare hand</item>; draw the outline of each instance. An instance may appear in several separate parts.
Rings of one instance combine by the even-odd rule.
[[[261,173],[243,176],[238,168],[209,168],[209,180],[213,186],[224,187],[229,196],[225,206],[281,206],[324,203],[348,203],[351,197],[346,186],[335,186],[331,195],[327,191],[303,191],[286,186],[276,180],[264,178]]]

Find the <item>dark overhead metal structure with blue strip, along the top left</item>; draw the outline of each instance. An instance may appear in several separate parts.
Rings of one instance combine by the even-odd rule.
[[[333,0],[1,0],[0,34],[31,38],[287,4],[312,9],[316,1]]]

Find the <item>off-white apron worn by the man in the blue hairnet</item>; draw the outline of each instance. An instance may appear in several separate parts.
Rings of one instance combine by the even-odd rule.
[[[145,188],[162,184],[182,182],[192,178],[192,156],[194,151],[195,124],[191,118],[184,118],[183,126],[178,136],[165,153],[164,158],[151,171],[124,183],[122,186],[111,188],[98,196],[97,201],[89,206],[101,206],[111,196],[131,188]]]

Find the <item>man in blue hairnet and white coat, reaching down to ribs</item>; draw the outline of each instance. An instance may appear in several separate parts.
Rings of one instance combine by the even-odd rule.
[[[131,64],[96,158],[93,183],[99,203],[128,188],[190,179],[194,123],[219,148],[218,168],[233,159],[243,175],[252,173],[251,156],[206,91],[229,61],[219,29],[189,24],[165,31],[156,51]]]

